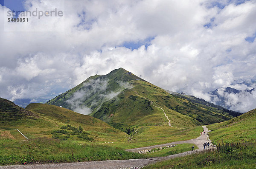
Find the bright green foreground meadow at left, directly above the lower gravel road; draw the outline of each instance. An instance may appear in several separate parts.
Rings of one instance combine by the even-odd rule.
[[[52,138],[29,141],[0,140],[0,165],[64,163],[144,158],[138,153],[96,144],[79,144]]]

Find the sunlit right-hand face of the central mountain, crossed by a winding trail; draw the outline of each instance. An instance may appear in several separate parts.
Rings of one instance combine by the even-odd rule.
[[[198,106],[149,82],[131,80],[131,84],[133,88],[123,90],[116,98],[104,102],[93,116],[121,130],[133,125],[167,125],[163,110],[173,127],[191,127],[230,119],[212,107]]]

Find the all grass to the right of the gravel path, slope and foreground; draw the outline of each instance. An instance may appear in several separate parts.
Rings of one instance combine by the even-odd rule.
[[[215,143],[249,142],[245,145],[223,146],[215,152],[207,152],[175,158],[146,166],[145,169],[255,169],[256,168],[256,109],[229,121],[208,125],[210,139]],[[253,139],[253,140],[252,140]]]

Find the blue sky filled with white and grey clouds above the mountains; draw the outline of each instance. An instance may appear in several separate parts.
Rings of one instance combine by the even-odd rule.
[[[7,21],[36,9],[62,15]],[[0,16],[1,98],[52,99],[121,67],[212,102],[217,88],[256,87],[235,84],[256,79],[256,0],[0,0]],[[233,110],[256,108],[255,92],[240,95]]]

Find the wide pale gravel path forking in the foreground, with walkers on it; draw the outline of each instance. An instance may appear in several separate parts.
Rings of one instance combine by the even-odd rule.
[[[207,133],[208,129],[203,126],[204,131]],[[91,161],[80,163],[49,163],[49,164],[32,164],[32,165],[16,165],[16,166],[0,166],[0,169],[140,169],[143,166],[147,166],[157,161],[164,161],[175,157],[186,156],[197,152],[204,151],[203,144],[210,142],[207,134],[200,135],[198,138],[187,141],[176,141],[167,144],[147,146],[136,149],[127,149],[129,152],[137,152],[145,149],[154,149],[163,146],[169,146],[173,144],[192,143],[198,146],[199,149],[194,151],[182,152],[175,155],[169,155],[166,157],[148,158],[148,159],[131,159],[131,160],[112,160],[112,161]],[[210,142],[211,144],[211,142]],[[207,148],[206,148],[207,149]]]

